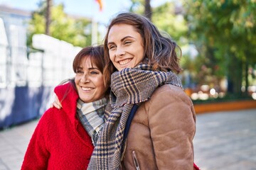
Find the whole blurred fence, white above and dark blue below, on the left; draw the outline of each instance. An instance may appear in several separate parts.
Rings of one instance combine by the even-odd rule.
[[[80,47],[47,35],[34,35],[33,47],[0,44],[0,129],[41,116],[53,88],[75,76]]]

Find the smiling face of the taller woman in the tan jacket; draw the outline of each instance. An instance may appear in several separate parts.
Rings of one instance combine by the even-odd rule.
[[[119,71],[135,67],[144,58],[142,36],[128,24],[119,23],[110,28],[107,47],[110,60]]]

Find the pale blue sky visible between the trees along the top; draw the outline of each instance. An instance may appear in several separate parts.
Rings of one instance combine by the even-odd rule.
[[[0,5],[33,11],[38,8],[40,1],[41,0],[0,0]],[[151,6],[159,6],[166,1],[171,0],[151,0]],[[103,9],[100,11],[96,0],[53,0],[53,3],[64,4],[65,13],[86,16],[100,23],[108,23],[115,13],[127,11],[131,5],[130,0],[102,0]]]

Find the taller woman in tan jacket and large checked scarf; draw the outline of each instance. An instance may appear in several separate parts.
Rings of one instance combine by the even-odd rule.
[[[88,169],[193,169],[196,113],[174,73],[178,45],[147,18],[120,13],[104,49],[112,93]]]

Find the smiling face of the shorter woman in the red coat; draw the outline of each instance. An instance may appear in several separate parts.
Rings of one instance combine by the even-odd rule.
[[[75,87],[79,98],[85,103],[100,100],[105,96],[107,88],[103,82],[103,74],[92,64],[90,56],[81,60],[75,72]]]

